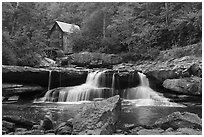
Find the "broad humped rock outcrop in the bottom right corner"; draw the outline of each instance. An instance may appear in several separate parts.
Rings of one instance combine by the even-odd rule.
[[[158,119],[151,126],[135,126],[126,134],[130,135],[201,135],[202,120],[189,112],[174,112]]]

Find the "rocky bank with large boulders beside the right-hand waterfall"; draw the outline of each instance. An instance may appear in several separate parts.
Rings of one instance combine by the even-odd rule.
[[[150,85],[181,94],[202,95],[202,58],[184,56],[163,61],[119,64],[114,70],[137,70],[147,75]]]

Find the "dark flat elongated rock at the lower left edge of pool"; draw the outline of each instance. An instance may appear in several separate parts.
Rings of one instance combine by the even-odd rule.
[[[26,128],[26,129],[31,129],[33,127],[33,125],[36,125],[35,122],[30,121],[30,120],[26,120],[26,119],[21,118],[21,117],[3,116],[2,119],[7,121],[7,122],[15,123],[15,127],[20,126],[20,127]]]

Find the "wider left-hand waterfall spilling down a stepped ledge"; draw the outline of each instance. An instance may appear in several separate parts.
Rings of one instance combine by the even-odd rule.
[[[44,101],[53,101],[56,96],[58,96],[57,102],[91,101],[95,98],[111,97],[113,96],[113,90],[107,86],[106,79],[105,71],[90,72],[84,84],[48,91],[45,94]],[[114,86],[114,83],[112,85]]]

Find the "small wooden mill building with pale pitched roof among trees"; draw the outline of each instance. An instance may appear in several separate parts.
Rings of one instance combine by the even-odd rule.
[[[77,25],[55,21],[50,30],[49,46],[52,48],[62,49],[64,53],[72,53],[73,51],[70,44],[70,38],[76,31],[80,31],[80,27]]]

